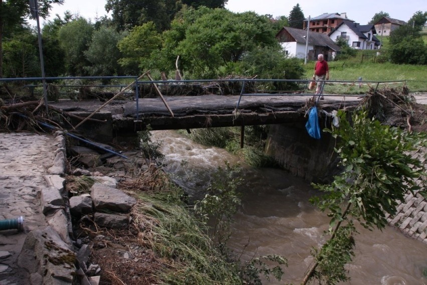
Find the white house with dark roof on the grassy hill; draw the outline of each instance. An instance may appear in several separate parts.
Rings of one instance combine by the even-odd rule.
[[[354,49],[374,50],[380,45],[374,34],[376,34],[374,25],[359,25],[345,20],[329,33],[329,37],[333,41],[344,39]]]

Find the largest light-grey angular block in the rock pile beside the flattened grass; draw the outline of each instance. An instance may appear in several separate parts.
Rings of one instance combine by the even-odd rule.
[[[129,195],[100,183],[92,186],[90,196],[97,211],[110,210],[127,213],[136,204],[136,200]]]

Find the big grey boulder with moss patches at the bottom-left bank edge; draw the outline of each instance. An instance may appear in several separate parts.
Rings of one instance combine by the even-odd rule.
[[[31,231],[18,257],[18,265],[44,285],[73,283],[76,256],[51,227]]]

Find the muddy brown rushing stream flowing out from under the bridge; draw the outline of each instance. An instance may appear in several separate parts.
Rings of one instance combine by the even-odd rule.
[[[218,166],[224,166],[225,161],[239,162],[225,150],[197,145],[175,131],[152,134],[153,141],[162,142],[166,171],[196,198]],[[311,262],[310,248],[325,241],[323,231],[329,222],[308,202],[318,192],[282,170],[245,167],[243,174],[243,205],[235,216],[229,247],[242,260],[270,253],[286,257],[289,264],[282,281],[273,278],[263,284],[299,284]],[[347,266],[351,277],[348,284],[427,284],[422,276],[427,270],[425,244],[391,227],[382,232],[358,227],[358,231],[356,256]]]

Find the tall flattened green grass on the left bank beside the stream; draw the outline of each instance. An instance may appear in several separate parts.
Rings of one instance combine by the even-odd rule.
[[[159,284],[242,284],[239,265],[228,262],[213,246],[207,229],[176,203],[139,194],[139,213],[154,217],[152,248],[167,264],[157,272]],[[160,269],[160,268],[159,268]]]

